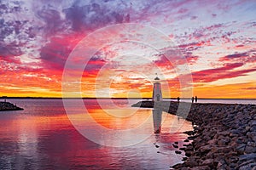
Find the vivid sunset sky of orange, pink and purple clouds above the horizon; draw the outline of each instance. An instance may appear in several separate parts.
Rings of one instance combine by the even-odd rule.
[[[254,0],[0,0],[0,96],[151,97],[157,73],[166,98],[255,99],[255,16]]]

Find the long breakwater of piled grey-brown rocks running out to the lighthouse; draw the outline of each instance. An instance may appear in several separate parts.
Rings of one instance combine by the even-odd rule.
[[[177,111],[177,102],[143,101],[132,106],[161,108],[196,125],[186,132],[192,142],[181,148],[186,161],[172,168],[256,170],[256,105],[192,104],[188,114]]]

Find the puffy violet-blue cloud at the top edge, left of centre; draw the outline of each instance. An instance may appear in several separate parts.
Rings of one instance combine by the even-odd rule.
[[[111,8],[108,3],[88,3],[81,5],[80,1],[73,3],[71,7],[64,8],[66,19],[71,21],[73,31],[90,30],[129,22],[130,15],[117,7]]]

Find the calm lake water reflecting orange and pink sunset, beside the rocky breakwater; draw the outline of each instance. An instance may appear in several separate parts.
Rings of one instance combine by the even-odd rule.
[[[166,112],[131,108],[135,99],[87,99],[87,112],[75,99],[68,109],[61,99],[9,101],[25,110],[0,112],[1,170],[169,169],[184,156],[172,144],[182,147],[192,130]]]

